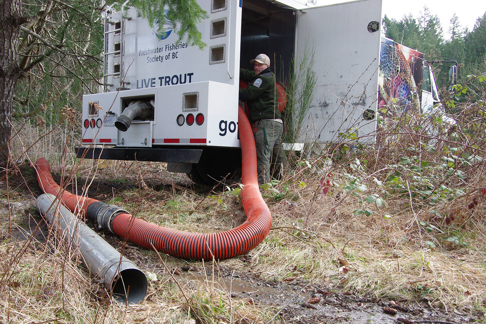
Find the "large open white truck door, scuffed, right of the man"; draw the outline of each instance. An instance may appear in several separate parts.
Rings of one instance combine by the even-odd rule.
[[[375,140],[381,15],[382,0],[297,11],[296,62],[313,49],[317,77],[299,141],[338,141],[351,129],[360,142]]]

